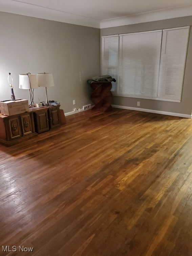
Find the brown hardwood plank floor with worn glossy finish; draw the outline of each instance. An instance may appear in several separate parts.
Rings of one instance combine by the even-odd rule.
[[[123,109],[66,120],[0,146],[0,255],[191,256],[192,120]]]

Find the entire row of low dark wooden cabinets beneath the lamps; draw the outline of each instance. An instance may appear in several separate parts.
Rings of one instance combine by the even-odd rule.
[[[60,106],[33,107],[18,115],[0,114],[0,143],[12,146],[61,125]]]

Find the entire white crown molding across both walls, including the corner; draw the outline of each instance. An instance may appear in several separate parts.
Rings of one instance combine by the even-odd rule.
[[[154,12],[136,14],[102,21],[87,18],[80,15],[66,13],[60,10],[20,2],[19,0],[0,0],[0,11],[6,13],[25,15],[29,17],[41,18],[45,20],[53,20],[70,24],[76,24],[81,26],[108,28],[184,16],[192,16],[192,5],[157,10]]]

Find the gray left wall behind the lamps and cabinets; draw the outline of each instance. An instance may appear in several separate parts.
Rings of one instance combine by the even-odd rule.
[[[16,98],[28,100],[19,74],[51,72],[55,86],[47,88],[48,99],[60,101],[65,113],[91,103],[86,81],[100,75],[100,29],[0,12],[0,37],[0,100],[10,99],[9,72]],[[40,101],[45,88],[35,89]]]

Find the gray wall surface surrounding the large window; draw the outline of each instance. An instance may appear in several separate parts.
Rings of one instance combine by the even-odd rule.
[[[110,27],[101,29],[101,36],[133,33],[147,30],[182,27],[192,25],[192,16],[174,18],[153,22],[145,22],[140,24],[125,25],[119,27]],[[188,52],[186,59],[186,68],[184,75],[182,101],[180,103],[157,101],[147,99],[136,99],[127,97],[113,97],[114,105],[121,105],[126,107],[137,107],[137,101],[141,102],[140,107],[144,109],[153,109],[159,111],[175,112],[181,114],[192,114],[192,28],[190,29],[190,37],[188,44]]]

